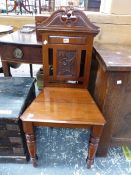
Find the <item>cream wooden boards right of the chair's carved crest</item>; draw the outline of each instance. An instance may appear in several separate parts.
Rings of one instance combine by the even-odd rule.
[[[88,16],[101,29],[96,37],[98,42],[131,44],[131,15],[92,13]]]

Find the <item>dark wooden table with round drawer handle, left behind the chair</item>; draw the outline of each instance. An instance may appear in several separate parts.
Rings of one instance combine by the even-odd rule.
[[[3,36],[0,38],[0,49],[5,76],[11,75],[9,62],[42,64],[42,43],[37,41],[35,32],[16,31]],[[20,57],[20,51],[22,51],[22,57]]]

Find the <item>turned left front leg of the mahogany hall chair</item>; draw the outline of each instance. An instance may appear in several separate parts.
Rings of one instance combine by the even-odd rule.
[[[31,122],[24,122],[23,127],[24,127],[25,136],[26,136],[28,151],[30,154],[30,159],[33,166],[36,167],[37,156],[36,156],[36,142],[35,142],[35,136],[33,131],[33,125]]]

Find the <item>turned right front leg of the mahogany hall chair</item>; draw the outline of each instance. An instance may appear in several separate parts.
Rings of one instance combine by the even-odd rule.
[[[88,147],[87,168],[91,168],[91,165],[93,165],[94,163],[94,158],[96,155],[102,130],[103,126],[93,126],[91,129],[91,135]]]

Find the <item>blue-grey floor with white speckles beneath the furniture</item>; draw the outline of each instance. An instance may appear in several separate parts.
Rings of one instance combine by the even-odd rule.
[[[39,69],[34,66],[34,75]],[[29,76],[29,66],[12,69],[13,76]],[[0,74],[0,76],[3,76]],[[121,147],[110,148],[106,158],[95,158],[86,168],[87,129],[36,128],[38,167],[28,163],[0,163],[0,175],[131,175],[131,162]]]

